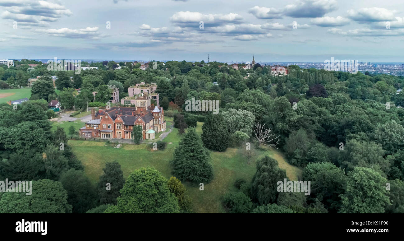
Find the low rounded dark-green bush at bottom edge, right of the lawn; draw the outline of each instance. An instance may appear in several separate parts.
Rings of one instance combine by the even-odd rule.
[[[242,192],[229,192],[223,197],[223,206],[229,213],[247,214],[252,209],[250,198]]]

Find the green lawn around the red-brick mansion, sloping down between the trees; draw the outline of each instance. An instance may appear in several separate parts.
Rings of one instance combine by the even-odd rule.
[[[167,121],[172,120],[166,118]],[[79,125],[80,124],[80,125]],[[69,128],[71,123],[54,123],[56,125]],[[78,128],[81,123],[74,123]],[[196,130],[201,132],[202,123],[198,122]],[[122,144],[121,148],[114,148],[116,144],[108,142],[69,140],[74,153],[82,161],[84,171],[92,182],[97,182],[99,176],[103,173],[102,169],[105,163],[109,161],[118,161],[120,163],[124,177],[127,178],[130,173],[140,167],[154,167],[167,179],[171,177],[170,160],[173,158],[175,147],[181,140],[178,135],[178,129],[173,131],[164,139],[167,144],[166,150],[154,151],[148,147],[149,144],[132,145]],[[246,158],[242,155],[242,150],[238,148],[227,148],[225,152],[211,152],[211,163],[213,165],[214,178],[210,183],[204,184],[204,190],[199,190],[199,185],[183,182],[190,197],[193,199],[194,212],[197,213],[221,213],[225,212],[221,204],[222,196],[231,190],[237,190],[234,182],[242,178],[251,182],[254,175],[255,160],[262,156],[269,155],[276,159],[279,166],[286,169],[286,174],[290,180],[298,180],[302,170],[286,162],[281,152],[274,148],[268,148],[257,151],[257,155],[252,158],[250,164],[247,164]]]

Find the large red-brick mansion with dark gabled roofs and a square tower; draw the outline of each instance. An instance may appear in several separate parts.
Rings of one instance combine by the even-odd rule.
[[[131,139],[133,127],[142,127],[143,140],[153,140],[155,133],[166,130],[164,110],[151,104],[151,97],[139,96],[135,107],[116,106],[109,110],[91,109],[91,120],[80,128],[79,135],[101,139]]]

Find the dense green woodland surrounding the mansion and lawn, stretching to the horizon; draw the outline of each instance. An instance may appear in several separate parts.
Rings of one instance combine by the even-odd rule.
[[[238,180],[240,190],[223,197],[228,212],[404,212],[404,93],[396,94],[403,76],[298,66],[288,66],[288,76],[272,76],[270,68],[259,64],[252,70],[233,70],[218,62],[157,63],[157,69],[141,70],[139,63],[82,62],[99,68],[80,74],[48,71],[46,63],[29,68],[27,64],[38,62],[28,60],[15,61],[18,67],[0,66],[1,89],[43,76],[32,87],[32,101],[17,110],[0,105],[0,180],[34,180],[34,191],[53,190],[33,191],[32,196],[0,192],[0,213],[191,212],[181,181],[209,182],[215,175],[211,151],[250,143],[251,152],[259,152],[263,146],[255,136],[257,125],[271,129],[278,137],[276,148],[290,164],[303,168],[301,180],[311,181],[311,193],[277,192],[276,182],[287,178],[286,172],[266,156],[256,160],[252,180]],[[122,69],[116,69],[118,64]],[[58,77],[60,93],[55,93],[50,76]],[[142,168],[125,181],[119,164],[112,162],[98,186],[92,186],[65,131],[50,131],[47,103],[57,97],[68,109],[100,106],[109,99],[108,85],[120,88],[122,98],[140,82],[157,83],[160,105],[183,133],[171,161],[175,178],[168,181],[156,169]],[[78,88],[80,94],[75,93]],[[98,92],[95,100],[93,91]],[[185,112],[185,101],[193,97],[219,100],[219,114]],[[168,110],[171,101],[179,111]],[[204,122],[200,136],[193,129],[197,121]],[[106,182],[112,191],[105,191]]]

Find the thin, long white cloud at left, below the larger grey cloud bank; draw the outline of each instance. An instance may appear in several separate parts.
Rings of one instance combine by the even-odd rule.
[[[98,32],[98,27],[86,27],[82,29],[69,29],[63,27],[60,29],[37,29],[36,32],[48,34],[54,37],[64,37],[64,38],[91,38],[99,39],[106,35],[101,35]]]

